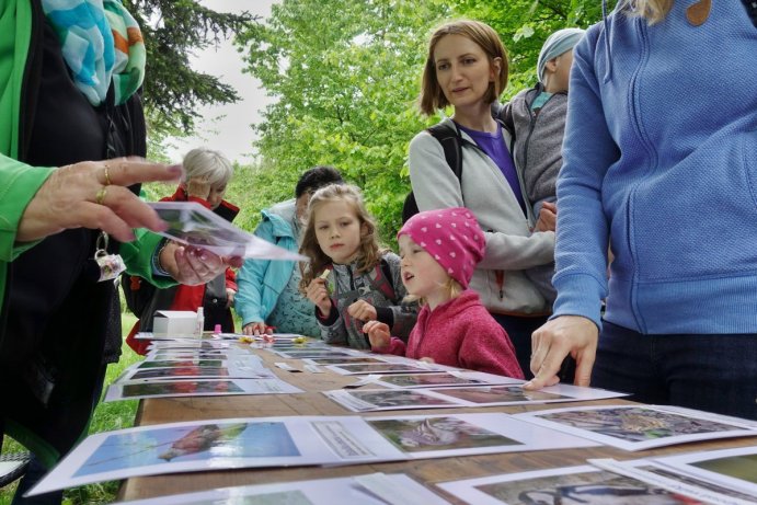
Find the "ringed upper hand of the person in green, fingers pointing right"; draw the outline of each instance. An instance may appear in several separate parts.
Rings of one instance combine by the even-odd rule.
[[[133,228],[163,231],[167,225],[128,190],[149,181],[175,181],[181,167],[139,158],[84,161],[54,171],[21,216],[15,240],[30,242],[70,228],[101,229],[122,242]]]

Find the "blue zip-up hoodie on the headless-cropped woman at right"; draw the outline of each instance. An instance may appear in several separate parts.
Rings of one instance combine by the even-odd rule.
[[[554,315],[645,334],[757,333],[757,27],[615,12],[575,47]],[[606,275],[608,240],[615,254]]]

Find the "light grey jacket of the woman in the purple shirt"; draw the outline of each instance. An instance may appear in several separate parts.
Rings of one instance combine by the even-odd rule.
[[[456,127],[451,119],[443,123]],[[554,232],[530,231],[535,221],[527,195],[528,218],[500,168],[470,136],[463,131],[461,136],[467,140],[462,142],[461,181],[449,169],[441,145],[431,134],[421,131],[410,142],[410,181],[417,207],[468,207],[475,214],[486,234],[486,251],[470,287],[479,292],[486,309],[495,313],[547,313],[547,301],[524,269],[553,260]],[[511,137],[504,128],[503,136],[509,146]],[[502,290],[497,271],[504,273]]]

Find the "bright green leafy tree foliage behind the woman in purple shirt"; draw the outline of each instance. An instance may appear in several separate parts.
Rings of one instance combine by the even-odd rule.
[[[410,190],[408,146],[438,119],[420,116],[415,104],[428,35],[450,18],[481,20],[502,35],[512,60],[506,99],[535,83],[544,38],[598,21],[600,3],[283,0],[265,23],[236,38],[246,71],[275,99],[256,126],[261,161],[249,173],[252,205],[289,198],[302,171],[333,164],[363,188],[382,237],[393,243]]]

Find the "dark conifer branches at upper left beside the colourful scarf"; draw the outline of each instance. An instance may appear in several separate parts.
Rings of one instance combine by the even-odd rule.
[[[239,100],[229,84],[193,70],[190,55],[257,19],[215,12],[196,0],[125,0],[124,4],[139,23],[147,47],[144,100],[150,153],[160,159],[165,138],[194,131],[199,105]]]

